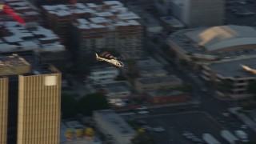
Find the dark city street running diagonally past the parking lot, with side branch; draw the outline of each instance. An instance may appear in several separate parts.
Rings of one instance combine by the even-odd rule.
[[[160,44],[165,42],[164,38],[158,38],[161,42],[158,42],[158,45],[154,45],[150,39],[146,40],[148,51],[151,54],[158,54],[162,56],[169,63],[170,74],[175,74],[179,78],[186,83],[190,83],[193,86],[192,98],[199,101],[198,107],[196,110],[205,111],[207,114],[210,115],[211,118],[214,118],[219,125],[222,125],[223,128],[227,130],[242,130],[241,126],[243,123],[238,118],[226,118],[223,116],[223,113],[227,112],[230,104],[234,104],[234,102],[219,100],[218,98],[214,97],[213,92],[207,88],[207,91],[202,91],[202,88],[206,86],[203,85],[202,79],[198,77],[198,74],[195,74],[193,71],[186,70],[185,67],[182,67],[178,64],[178,62],[174,62],[173,59],[169,58],[165,53],[162,52],[160,49]],[[150,110],[150,114],[170,114],[176,113],[178,110],[186,110],[186,111],[193,111],[195,110],[194,105],[187,105],[187,106],[170,106],[170,107],[163,107],[159,109]],[[222,122],[222,123],[220,123]],[[252,130],[246,129],[247,134],[249,134],[250,138],[256,139],[254,137],[255,133]]]

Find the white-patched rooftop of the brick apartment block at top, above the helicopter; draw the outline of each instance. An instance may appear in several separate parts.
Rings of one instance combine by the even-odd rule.
[[[106,28],[113,30],[116,26],[141,26],[137,21],[140,17],[129,11],[118,1],[103,1],[101,4],[76,3],[70,5],[42,6],[49,14],[58,17],[76,14],[86,14],[88,18],[78,18],[74,26],[82,30]],[[68,18],[66,18],[68,19]],[[103,24],[104,23],[104,24]]]

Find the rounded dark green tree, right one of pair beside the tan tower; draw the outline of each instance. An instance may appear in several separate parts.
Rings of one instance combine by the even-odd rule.
[[[80,99],[79,111],[85,115],[91,115],[94,110],[104,110],[109,108],[106,95],[101,93],[87,94]]]

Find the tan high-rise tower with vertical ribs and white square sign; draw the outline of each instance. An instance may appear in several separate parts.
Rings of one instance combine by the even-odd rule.
[[[59,143],[61,75],[30,56],[0,57],[0,144]]]

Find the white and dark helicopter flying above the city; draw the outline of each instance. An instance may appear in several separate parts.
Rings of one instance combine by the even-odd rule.
[[[96,55],[96,59],[98,61],[109,62],[110,64],[112,64],[114,66],[117,66],[118,68],[122,68],[124,66],[124,64],[121,61],[119,61],[117,58],[115,58],[114,56],[112,56],[108,52],[103,52],[100,55],[95,53],[95,55]]]

